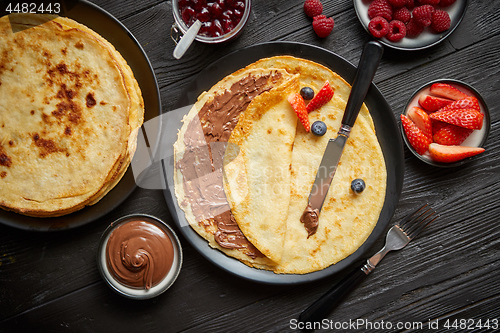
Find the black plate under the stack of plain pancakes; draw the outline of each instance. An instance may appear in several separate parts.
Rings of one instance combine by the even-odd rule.
[[[158,117],[161,114],[161,101],[156,77],[146,53],[130,31],[111,14],[87,1],[78,1],[65,16],[86,25],[114,45],[132,68],[141,88],[146,110],[144,121]],[[150,139],[152,137],[150,135]],[[121,204],[135,188],[136,181],[129,167],[115,188],[93,206],[56,218],[34,218],[0,209],[0,222],[16,228],[35,231],[75,228],[109,213]]]

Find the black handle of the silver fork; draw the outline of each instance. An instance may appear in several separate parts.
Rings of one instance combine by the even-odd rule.
[[[327,317],[330,311],[340,303],[349,290],[352,289],[363,277],[370,272],[363,270],[364,265],[357,267],[347,274],[339,283],[327,291],[316,302],[312,303],[299,315],[299,322],[321,322]]]

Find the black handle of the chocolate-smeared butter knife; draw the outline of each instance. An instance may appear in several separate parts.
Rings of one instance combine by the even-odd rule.
[[[354,76],[351,93],[347,100],[342,124],[349,127],[354,125],[383,53],[384,47],[382,44],[376,41],[370,41],[365,44],[361,59],[359,60],[358,70]]]

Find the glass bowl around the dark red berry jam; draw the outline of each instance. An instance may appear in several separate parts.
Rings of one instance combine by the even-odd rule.
[[[217,44],[217,43],[222,43],[226,42],[229,40],[232,40],[236,38],[240,33],[241,30],[243,30],[243,27],[246,25],[248,21],[248,17],[250,16],[250,11],[252,9],[252,1],[251,0],[242,0],[245,2],[245,12],[243,13],[243,17],[241,18],[240,22],[234,27],[233,30],[229,31],[227,34],[219,36],[219,37],[207,37],[207,36],[202,36],[202,35],[196,35],[195,40],[206,43],[206,44]],[[185,34],[186,31],[189,29],[189,27],[184,23],[181,17],[181,12],[179,10],[179,4],[178,0],[173,0],[172,1],[172,11],[174,13],[174,19],[175,23],[172,25],[172,28],[170,30],[170,34],[172,39],[177,42],[179,39],[179,36],[175,36],[175,34],[179,33],[178,30],[180,30],[181,34]]]

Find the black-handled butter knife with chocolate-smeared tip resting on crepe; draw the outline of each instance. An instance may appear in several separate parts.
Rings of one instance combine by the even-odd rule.
[[[333,176],[335,175],[335,171],[337,170],[337,164],[342,156],[342,151],[351,133],[351,128],[354,126],[354,122],[358,117],[359,110],[363,105],[383,52],[384,48],[382,45],[375,41],[366,43],[363,48],[363,53],[359,60],[351,93],[342,118],[342,125],[337,133],[337,137],[328,141],[321,164],[316,173],[316,179],[314,180],[311,193],[309,194],[309,204],[304,211],[304,215],[312,215],[312,218],[316,221],[319,217],[328,189],[330,188]]]

